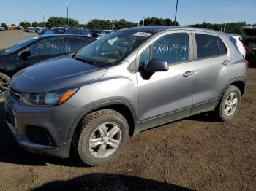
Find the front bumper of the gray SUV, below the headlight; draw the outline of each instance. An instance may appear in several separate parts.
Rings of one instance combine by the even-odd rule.
[[[7,122],[18,144],[29,152],[69,157],[70,130],[81,109],[64,103],[59,106],[26,106],[10,93],[5,101]]]

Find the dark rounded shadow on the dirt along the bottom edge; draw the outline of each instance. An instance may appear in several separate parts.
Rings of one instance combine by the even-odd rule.
[[[55,181],[43,184],[34,191],[39,190],[191,190],[175,184],[158,182],[151,179],[142,179],[135,176],[118,174],[86,174],[67,181]]]

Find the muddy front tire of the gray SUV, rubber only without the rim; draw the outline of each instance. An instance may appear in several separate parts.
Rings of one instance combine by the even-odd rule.
[[[89,140],[96,132],[95,130],[106,122],[114,122],[116,125],[118,125],[121,140],[119,141],[118,147],[113,154],[102,158],[95,157],[89,149]],[[118,157],[118,155],[120,155],[121,151],[124,149],[128,139],[129,125],[125,117],[114,110],[104,109],[97,112],[92,112],[83,117],[78,129],[75,131],[72,145],[75,153],[78,155],[78,157],[80,157],[83,163],[96,166],[108,163],[110,160]]]

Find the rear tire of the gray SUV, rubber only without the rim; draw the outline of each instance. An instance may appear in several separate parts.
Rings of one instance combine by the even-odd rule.
[[[236,109],[233,109],[233,113],[230,115],[227,115],[225,112],[225,101],[227,100],[228,96],[230,96],[231,93],[235,93],[236,94],[236,98],[237,98],[237,105],[236,105]],[[234,116],[236,115],[236,112],[238,111],[238,107],[241,104],[241,91],[239,90],[238,87],[234,86],[234,85],[229,85],[223,95],[221,100],[219,101],[219,104],[217,105],[216,109],[215,109],[215,114],[216,116],[219,118],[219,120],[222,121],[230,121],[233,120]]]

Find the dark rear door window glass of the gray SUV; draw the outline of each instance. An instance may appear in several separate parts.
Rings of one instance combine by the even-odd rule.
[[[208,34],[195,34],[197,42],[197,58],[207,58],[219,55],[216,36]]]

